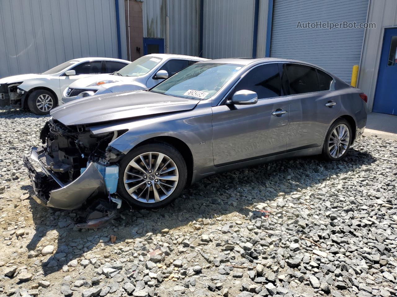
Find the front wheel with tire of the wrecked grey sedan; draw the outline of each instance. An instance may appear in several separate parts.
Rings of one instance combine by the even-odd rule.
[[[181,153],[167,143],[134,148],[120,162],[118,194],[137,208],[170,204],[185,188],[187,167]]]

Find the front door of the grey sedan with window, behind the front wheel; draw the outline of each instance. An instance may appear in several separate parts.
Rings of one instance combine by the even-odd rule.
[[[212,107],[215,166],[278,154],[287,149],[289,101],[281,91],[278,63],[251,69],[226,99],[243,89],[256,92],[258,102]]]

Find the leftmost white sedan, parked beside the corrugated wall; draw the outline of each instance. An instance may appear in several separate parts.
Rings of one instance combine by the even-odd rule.
[[[79,58],[41,74],[21,74],[0,79],[0,106],[29,108],[35,114],[49,114],[62,92],[75,80],[94,74],[112,73],[131,63],[113,58]]]

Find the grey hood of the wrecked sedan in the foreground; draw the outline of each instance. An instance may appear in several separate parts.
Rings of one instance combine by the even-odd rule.
[[[199,100],[148,91],[110,93],[63,104],[50,114],[64,125],[83,125],[194,109]]]

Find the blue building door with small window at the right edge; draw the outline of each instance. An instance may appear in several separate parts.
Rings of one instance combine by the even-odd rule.
[[[397,114],[397,28],[385,29],[372,111]]]

